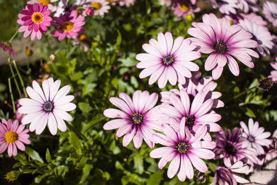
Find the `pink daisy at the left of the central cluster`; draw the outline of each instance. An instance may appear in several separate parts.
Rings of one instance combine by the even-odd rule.
[[[109,101],[122,111],[105,109],[105,116],[118,119],[108,121],[103,129],[114,130],[119,128],[116,136],[125,135],[123,137],[124,147],[133,139],[135,148],[140,148],[143,140],[150,148],[153,148],[152,134],[155,133],[154,130],[162,129],[161,125],[157,123],[159,109],[154,107],[158,101],[158,94],[150,95],[148,91],[138,90],[134,92],[133,99],[125,93],[120,93],[119,98],[111,97]]]

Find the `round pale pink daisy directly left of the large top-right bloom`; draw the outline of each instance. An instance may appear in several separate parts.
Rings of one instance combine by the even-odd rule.
[[[158,41],[150,39],[149,44],[143,44],[147,53],[136,55],[136,60],[141,61],[136,67],[145,68],[139,78],[150,76],[149,85],[159,79],[160,89],[165,87],[168,81],[171,85],[176,85],[177,81],[186,83],[186,78],[192,76],[190,71],[199,70],[197,64],[190,62],[201,57],[198,51],[193,51],[195,48],[189,39],[180,36],[173,42],[171,33],[159,33]]]

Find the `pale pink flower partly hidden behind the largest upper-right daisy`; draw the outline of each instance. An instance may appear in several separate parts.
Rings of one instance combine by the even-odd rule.
[[[257,49],[261,55],[265,56],[265,51],[270,55],[269,49],[272,49],[274,43],[273,37],[265,26],[258,26],[256,23],[248,20],[240,20],[240,26],[253,35],[252,39],[258,42]]]

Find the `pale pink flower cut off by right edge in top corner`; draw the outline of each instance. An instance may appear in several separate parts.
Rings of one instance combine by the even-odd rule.
[[[277,3],[266,1],[263,4],[262,12],[265,14],[265,17],[273,24],[277,26]]]

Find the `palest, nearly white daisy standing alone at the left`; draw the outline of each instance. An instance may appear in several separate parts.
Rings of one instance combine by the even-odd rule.
[[[42,88],[33,80],[33,88],[27,87],[26,91],[30,98],[19,100],[18,112],[27,114],[22,119],[22,124],[30,123],[30,132],[35,130],[36,134],[41,134],[46,125],[52,135],[57,134],[57,128],[62,132],[66,131],[65,121],[72,121],[68,114],[76,108],[74,103],[70,103],[74,96],[67,95],[71,87],[66,85],[59,90],[60,80],[54,82],[53,78],[48,78],[42,82]]]

